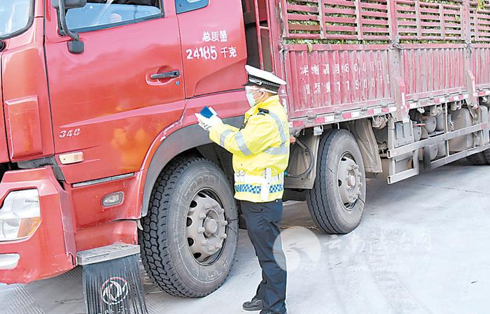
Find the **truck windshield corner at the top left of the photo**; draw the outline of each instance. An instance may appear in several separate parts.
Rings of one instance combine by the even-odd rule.
[[[20,34],[29,26],[34,0],[0,0],[0,38]]]

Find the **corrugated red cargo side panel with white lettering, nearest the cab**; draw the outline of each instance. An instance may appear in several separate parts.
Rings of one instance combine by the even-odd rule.
[[[391,99],[386,49],[318,45],[312,52],[290,51],[287,58],[286,75],[294,86],[292,117],[322,108],[344,110]]]

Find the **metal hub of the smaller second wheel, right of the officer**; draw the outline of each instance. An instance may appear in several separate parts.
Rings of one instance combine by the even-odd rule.
[[[359,166],[349,154],[344,154],[340,159],[337,176],[340,199],[350,209],[359,198],[362,183]]]

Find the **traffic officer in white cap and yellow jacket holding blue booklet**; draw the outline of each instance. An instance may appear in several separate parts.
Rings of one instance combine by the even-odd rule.
[[[241,201],[248,236],[262,268],[255,297],[243,304],[260,314],[286,313],[286,259],[279,237],[284,171],[289,159],[289,127],[278,91],[286,82],[272,73],[246,66],[246,98],[251,108],[240,129],[217,115],[197,114],[209,138],[233,154],[235,198]],[[274,245],[275,243],[275,245]],[[281,266],[279,266],[281,265]]]

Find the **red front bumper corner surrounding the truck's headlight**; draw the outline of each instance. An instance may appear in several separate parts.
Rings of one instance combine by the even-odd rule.
[[[0,203],[13,191],[36,189],[41,222],[28,238],[0,241],[0,283],[29,283],[75,267],[75,242],[68,194],[50,167],[7,171],[0,183]]]

